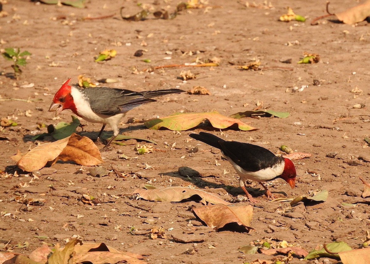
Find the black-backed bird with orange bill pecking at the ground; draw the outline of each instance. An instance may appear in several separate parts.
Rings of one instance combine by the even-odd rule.
[[[189,135],[212,147],[219,148],[222,155],[232,164],[239,175],[239,185],[249,198],[255,199],[245,189],[244,182],[249,179],[258,181],[266,190],[266,196],[273,199],[272,193],[263,185],[263,181],[282,178],[290,187],[295,187],[296,168],[289,158],[277,157],[266,148],[237,141],[225,141],[213,134],[200,132]]]

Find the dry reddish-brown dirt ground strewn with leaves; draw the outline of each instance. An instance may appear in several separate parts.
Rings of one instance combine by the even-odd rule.
[[[155,9],[168,7],[174,10],[176,1],[143,1]],[[259,3],[257,1],[257,3]],[[23,74],[11,78],[10,61],[0,59],[3,75],[0,76],[0,117],[17,119],[18,126],[3,128],[1,141],[0,238],[11,241],[7,248],[16,253],[29,254],[43,243],[61,243],[73,236],[87,242],[104,242],[118,250],[144,255],[148,263],[243,263],[256,258],[273,260],[274,256],[240,253],[238,248],[255,240],[272,238],[286,240],[310,251],[317,245],[331,241],[346,241],[359,248],[369,227],[369,199],[361,198],[363,184],[359,177],[370,181],[369,163],[358,160],[368,156],[364,138],[369,136],[369,78],[367,64],[370,35],[367,23],[357,26],[323,20],[318,26],[310,21],[326,13],[324,1],[271,1],[274,8],[252,8],[237,1],[209,0],[211,7],[182,11],[173,20],[124,21],[124,15],[140,11],[136,1],[87,1],[86,8],[56,6],[26,0],[8,0],[3,5],[9,16],[0,18],[0,48],[19,47],[32,55],[23,67]],[[333,12],[342,11],[358,1],[332,1]],[[284,23],[277,21],[290,6],[307,17],[306,22]],[[113,17],[81,20],[83,17]],[[142,46],[142,44],[147,46]],[[290,43],[290,44],[289,44]],[[104,63],[95,63],[94,56],[104,49],[117,50],[117,56]],[[145,49],[144,56],[135,57],[135,51]],[[169,52],[167,52],[169,51]],[[189,54],[202,51],[199,54]],[[296,64],[303,52],[320,54],[315,64]],[[166,53],[167,52],[167,53]],[[172,53],[172,54],[168,54]],[[170,60],[164,59],[171,57]],[[143,71],[149,66],[184,64],[200,60],[220,59],[218,67],[164,68],[151,73]],[[142,59],[150,59],[145,63]],[[234,63],[248,63],[258,59],[265,67],[262,71],[240,71]],[[292,64],[280,60],[292,59]],[[54,65],[54,66],[51,66]],[[285,68],[279,68],[285,67]],[[138,74],[134,74],[134,68]],[[290,68],[291,70],[287,69]],[[191,70],[196,78],[183,82],[177,77],[182,70]],[[84,74],[96,81],[116,78],[118,83],[108,86],[136,91],[179,87],[189,90],[193,86],[208,88],[211,95],[186,93],[164,96],[158,102],[136,108],[122,120],[121,133],[147,137],[158,142],[155,148],[162,151],[139,156],[136,160],[121,160],[121,152],[134,157],[134,145],[117,146],[102,153],[102,167],[115,167],[127,177],[110,173],[106,177],[92,177],[88,167],[58,162],[33,174],[16,170],[10,156],[17,149],[24,152],[36,146],[31,140],[37,123],[57,124],[70,121],[71,112],[63,111],[59,120],[48,112],[54,93],[69,77],[77,83]],[[314,86],[319,80],[321,86]],[[33,83],[33,87],[22,86]],[[308,86],[293,92],[293,87]],[[27,87],[27,86],[26,86]],[[356,87],[357,93],[353,91]],[[3,100],[9,98],[41,99],[40,101]],[[230,115],[252,110],[257,102],[263,107],[289,111],[290,116],[280,118],[243,118],[242,121],[258,128],[254,131],[213,129],[209,125],[175,133],[170,130],[149,130],[142,124],[125,124],[127,118],[146,120],[168,116],[175,111],[185,113],[215,109]],[[364,104],[363,108],[353,108]],[[31,116],[26,116],[31,110]],[[99,124],[86,124],[84,132],[97,136]],[[143,188],[148,182],[161,186],[192,186],[223,197],[237,199],[243,196],[238,177],[228,161],[206,144],[189,141],[190,133],[210,131],[213,134],[263,146],[277,153],[285,144],[290,148],[311,153],[312,156],[294,161],[297,170],[296,187],[282,180],[269,184],[277,197],[305,196],[311,190],[326,189],[326,202],[290,207],[289,203],[266,201],[262,191],[252,191],[259,200],[254,206],[251,226],[246,233],[235,227],[213,231],[196,221],[189,209],[200,206],[196,201],[160,203],[130,200],[125,194]],[[107,131],[110,128],[107,127]],[[176,143],[176,146],[171,146]],[[103,145],[100,144],[99,148]],[[198,146],[199,151],[188,153]],[[334,158],[328,153],[337,153]],[[216,160],[219,166],[216,166]],[[152,166],[145,169],[146,164]],[[203,177],[182,177],[181,166],[195,168]],[[13,175],[15,170],[19,175]],[[224,170],[226,174],[224,174]],[[76,172],[80,172],[77,173]],[[310,172],[310,173],[307,173]],[[141,176],[139,176],[139,174]],[[37,178],[32,176],[36,175]],[[21,188],[27,184],[29,187]],[[27,186],[26,185],[26,186]],[[115,187],[109,188],[108,187]],[[227,188],[232,186],[233,188]],[[259,188],[250,183],[249,190]],[[276,193],[282,192],[282,193]],[[83,194],[91,194],[100,205],[86,205],[80,201]],[[14,201],[16,196],[43,198],[44,205],[25,210]],[[240,203],[248,204],[248,201]],[[354,207],[342,203],[356,203]],[[32,221],[31,221],[32,220]],[[189,227],[189,220],[194,224]],[[131,226],[150,230],[153,225],[165,228],[167,238],[151,240],[148,235],[132,235]],[[143,232],[144,232],[143,231]],[[144,232],[145,233],[145,232]],[[171,235],[191,237],[203,234],[202,242],[178,243]],[[41,239],[35,236],[46,236]],[[3,242],[4,242],[3,241]],[[14,245],[29,243],[28,247]],[[194,251],[192,251],[194,249]],[[189,250],[193,254],[185,254]],[[293,258],[289,263],[302,263]],[[307,263],[337,263],[333,259],[319,259]]]

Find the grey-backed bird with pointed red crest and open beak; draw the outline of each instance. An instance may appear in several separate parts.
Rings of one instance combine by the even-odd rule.
[[[86,121],[103,124],[98,138],[100,138],[105,125],[110,125],[113,130],[113,137],[105,145],[105,149],[117,137],[119,133],[118,124],[127,111],[142,104],[157,101],[151,99],[153,97],[184,92],[180,89],[135,92],[108,87],[80,88],[68,85],[70,80],[71,78],[55,93],[49,111],[57,106],[55,115],[58,115],[64,109],[70,109]]]

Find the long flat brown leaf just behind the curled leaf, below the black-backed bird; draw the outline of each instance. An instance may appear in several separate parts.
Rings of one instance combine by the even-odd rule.
[[[156,188],[150,190],[136,189],[134,193],[140,195],[140,198],[150,201],[161,201],[161,202],[179,202],[181,200],[192,197],[193,195],[198,195],[202,198],[202,203],[205,202],[211,204],[231,204],[222,200],[219,196],[212,193],[207,193],[206,191],[189,188],[189,187],[165,187]]]

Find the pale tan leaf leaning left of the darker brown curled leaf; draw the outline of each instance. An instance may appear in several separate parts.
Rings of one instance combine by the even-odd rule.
[[[48,161],[53,161],[59,156],[65,146],[67,146],[68,140],[69,137],[66,137],[33,148],[18,160],[17,166],[24,171],[40,170]],[[18,153],[11,158],[19,158],[19,154],[18,151]]]

